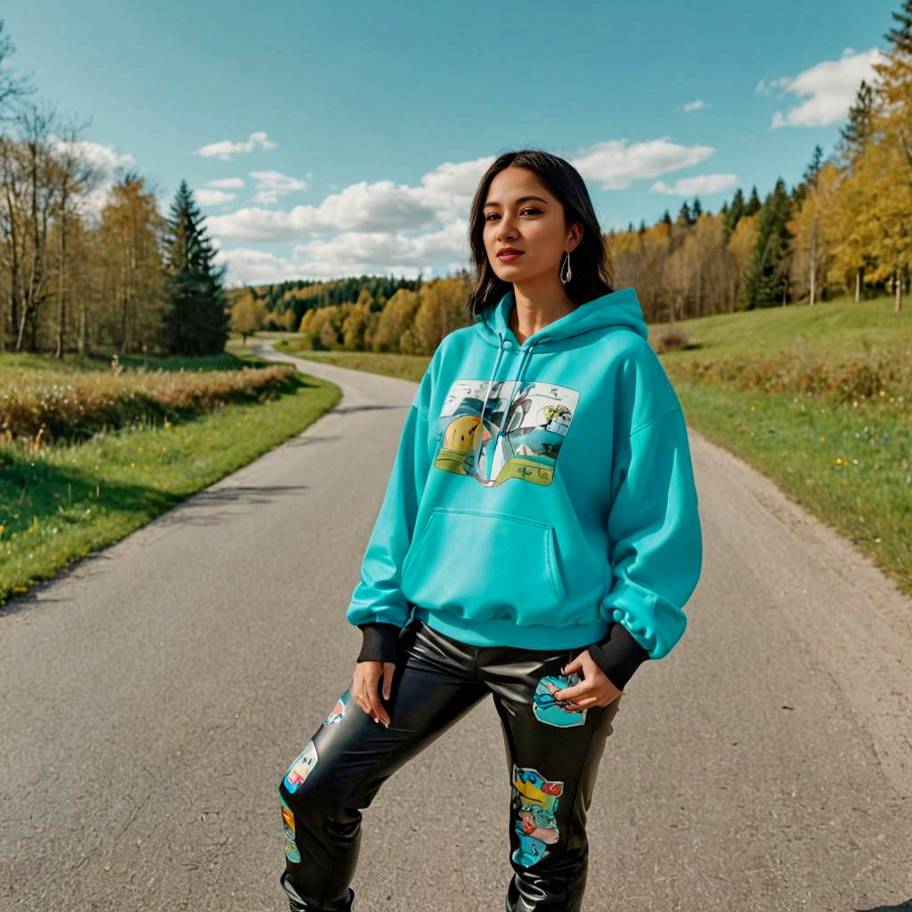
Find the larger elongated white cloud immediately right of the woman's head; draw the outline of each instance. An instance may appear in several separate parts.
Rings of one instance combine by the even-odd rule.
[[[633,181],[699,165],[714,151],[712,146],[681,146],[663,136],[630,145],[627,140],[606,140],[569,161],[602,190],[627,190]]]

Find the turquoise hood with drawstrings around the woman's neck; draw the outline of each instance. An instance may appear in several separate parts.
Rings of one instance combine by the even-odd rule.
[[[554,347],[554,343],[563,342],[565,339],[580,336],[594,329],[604,329],[606,333],[617,328],[632,329],[644,339],[648,340],[649,337],[646,321],[643,319],[643,311],[639,306],[637,292],[632,285],[609,292],[607,295],[596,297],[592,301],[587,301],[586,304],[576,306],[569,314],[552,320],[547,326],[543,326],[538,332],[527,337],[522,345],[519,344],[509,325],[515,303],[516,296],[511,288],[510,291],[503,295],[496,306],[484,311],[475,323],[476,330],[481,334],[485,342],[497,347],[497,357],[494,358],[491,377],[488,378],[482,402],[482,420],[488,407],[488,399],[491,396],[504,351],[515,351],[518,354],[515,375],[512,378],[514,381],[513,391],[510,394],[510,400],[505,411],[505,414],[509,414],[510,409],[513,407],[513,399],[517,392],[522,389],[523,373],[536,346],[541,347],[543,351],[547,351]],[[474,444],[476,461],[481,447],[482,434],[479,434]]]

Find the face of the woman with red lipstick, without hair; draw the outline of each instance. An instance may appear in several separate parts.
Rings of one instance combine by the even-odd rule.
[[[561,262],[565,251],[577,243],[577,233],[567,229],[564,207],[533,171],[511,165],[495,174],[483,218],[484,249],[494,275],[504,282],[534,283],[543,277],[560,282]],[[497,252],[502,247],[523,253],[512,260],[501,259]]]

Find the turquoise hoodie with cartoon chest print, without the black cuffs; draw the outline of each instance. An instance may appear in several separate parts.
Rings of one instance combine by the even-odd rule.
[[[632,287],[519,344],[513,291],[434,352],[402,429],[354,625],[649,658],[687,626],[702,537],[687,426]]]

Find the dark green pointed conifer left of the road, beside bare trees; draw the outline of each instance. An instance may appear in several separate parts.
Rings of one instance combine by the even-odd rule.
[[[176,355],[218,354],[231,321],[222,283],[227,266],[212,267],[215,249],[187,181],[181,181],[166,221],[165,346]]]

